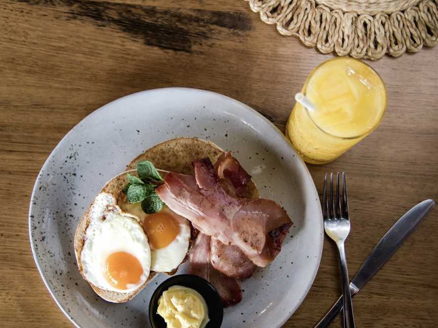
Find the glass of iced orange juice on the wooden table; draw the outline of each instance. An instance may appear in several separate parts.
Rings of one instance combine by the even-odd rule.
[[[369,135],[386,108],[386,89],[367,64],[349,58],[330,59],[307,77],[302,93],[313,104],[296,103],[286,136],[308,163],[338,158]]]

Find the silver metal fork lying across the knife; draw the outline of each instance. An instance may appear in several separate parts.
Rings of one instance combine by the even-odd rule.
[[[327,196],[327,174],[324,178],[322,190],[322,217],[324,219],[325,233],[338,245],[341,260],[342,294],[344,299],[344,327],[353,328],[354,316],[351,304],[350,280],[348,278],[347,259],[345,258],[344,242],[350,232],[350,220],[348,218],[347,184],[345,183],[345,172],[342,172],[343,188],[342,201],[339,194],[341,185],[339,183],[339,172],[337,174],[336,200],[333,192],[333,173],[330,174],[330,198]]]

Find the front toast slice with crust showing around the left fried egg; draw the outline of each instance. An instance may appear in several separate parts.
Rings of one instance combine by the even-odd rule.
[[[115,199],[118,199],[119,195],[123,194],[122,189],[125,187],[125,185],[127,183],[127,178],[126,178],[127,173],[128,172],[123,172],[123,173],[119,174],[118,176],[114,177],[113,179],[109,180],[103,186],[103,188],[100,190],[100,192],[106,192],[108,194],[111,194]],[[129,173],[135,175],[136,171],[131,171]],[[76,233],[75,233],[76,261],[78,263],[79,272],[82,274],[82,276],[84,277],[85,280],[87,280],[87,279],[84,275],[84,268],[83,268],[82,262],[81,262],[81,253],[82,253],[82,249],[84,247],[85,233],[86,233],[88,225],[90,224],[90,221],[91,221],[90,208],[93,205],[93,203],[94,203],[94,200],[90,204],[90,206],[88,207],[85,214],[82,216],[81,221],[79,222],[79,225],[76,228]],[[141,224],[138,217],[134,217],[134,218],[137,219],[139,221],[139,223]],[[96,294],[99,295],[104,300],[106,300],[108,302],[113,302],[113,303],[123,303],[123,302],[129,301],[135,295],[137,295],[138,292],[140,292],[144,288],[144,286],[149,281],[151,281],[152,278],[155,277],[156,274],[157,274],[157,272],[150,271],[148,279],[141,286],[139,286],[139,288],[137,290],[132,291],[130,293],[119,293],[119,292],[102,290],[102,289],[98,288],[97,286],[95,286],[90,281],[88,281],[88,280],[87,281],[91,285],[91,288],[96,292]]]

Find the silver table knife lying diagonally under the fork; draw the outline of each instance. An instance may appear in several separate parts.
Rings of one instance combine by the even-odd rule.
[[[432,199],[426,199],[418,203],[412,209],[398,219],[386,234],[377,243],[368,258],[362,263],[356,275],[350,282],[351,297],[356,295],[360,289],[376,274],[377,271],[388,261],[400,245],[414,232],[421,221],[429,214],[435,206]],[[341,312],[342,296],[316,324],[315,328],[328,326],[333,319]]]

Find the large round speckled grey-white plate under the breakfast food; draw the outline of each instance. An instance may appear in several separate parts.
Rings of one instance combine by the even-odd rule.
[[[147,327],[149,300],[168,276],[157,275],[123,304],[100,299],[78,271],[74,234],[106,181],[145,149],[198,137],[231,150],[293,226],[277,258],[242,281],[243,300],[224,311],[223,327],[281,326],[300,306],[322,252],[321,208],[302,159],[264,116],[212,92],[166,88],[115,100],[84,118],[59,142],[36,179],[29,209],[33,257],[52,297],[78,327]],[[188,263],[177,274],[187,273]]]

